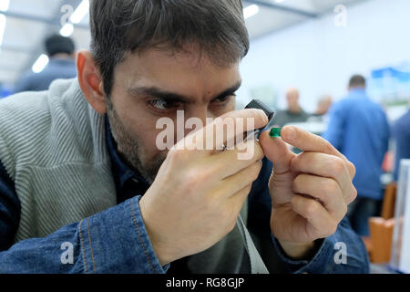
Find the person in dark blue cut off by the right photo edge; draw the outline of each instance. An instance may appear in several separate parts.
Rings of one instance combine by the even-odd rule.
[[[410,159],[410,110],[400,119],[395,121],[392,130],[395,139],[395,181],[398,180],[400,171],[400,161]]]

